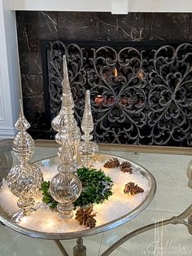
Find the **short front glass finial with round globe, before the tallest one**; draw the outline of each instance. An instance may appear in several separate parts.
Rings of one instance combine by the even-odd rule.
[[[57,210],[59,218],[68,220],[73,216],[72,203],[81,195],[81,180],[75,174],[72,174],[72,148],[68,136],[59,132],[59,140],[62,146],[59,147],[58,174],[50,182],[50,195],[58,202]]]

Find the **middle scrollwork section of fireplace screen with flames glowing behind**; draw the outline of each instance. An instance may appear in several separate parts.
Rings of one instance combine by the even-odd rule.
[[[93,51],[94,68],[88,74],[90,91],[94,99],[103,96],[103,102],[93,106],[94,135],[100,143],[139,143],[140,130],[146,123],[142,112],[146,82],[139,77],[142,54],[130,47],[116,52],[103,46]]]

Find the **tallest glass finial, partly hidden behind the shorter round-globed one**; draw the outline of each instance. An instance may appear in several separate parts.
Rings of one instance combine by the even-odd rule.
[[[72,91],[68,79],[68,65],[66,55],[63,55],[63,97],[62,105],[59,114],[53,119],[51,126],[58,133],[62,130],[62,134],[68,136],[70,140],[70,145],[72,148],[73,157],[73,171],[78,168],[77,164],[77,148],[81,140],[81,130],[76,124],[76,119],[74,117],[74,102],[72,99]],[[60,136],[55,135],[55,140],[60,143]]]

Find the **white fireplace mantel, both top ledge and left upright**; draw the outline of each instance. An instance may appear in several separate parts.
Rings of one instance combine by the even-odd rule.
[[[192,12],[191,0],[0,0],[0,138],[14,136],[21,97],[15,11]]]

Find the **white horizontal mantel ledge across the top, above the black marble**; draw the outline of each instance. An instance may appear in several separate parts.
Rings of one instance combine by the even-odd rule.
[[[109,11],[192,12],[191,0],[11,0],[12,10],[25,11]]]

